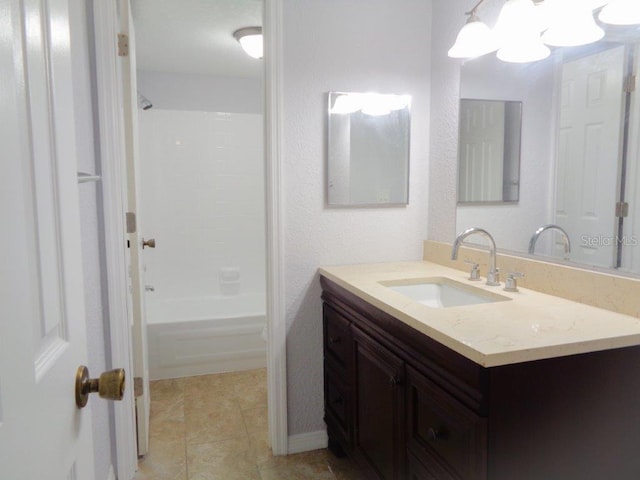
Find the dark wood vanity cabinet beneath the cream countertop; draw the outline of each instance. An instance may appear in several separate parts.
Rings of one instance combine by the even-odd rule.
[[[329,446],[367,478],[640,479],[640,348],[483,368],[321,282]]]

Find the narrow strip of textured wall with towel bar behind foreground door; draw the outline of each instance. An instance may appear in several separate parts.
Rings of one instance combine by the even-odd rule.
[[[94,120],[92,105],[92,78],[90,53],[93,12],[91,1],[69,2],[71,22],[71,49],[74,82],[74,110],[76,115],[76,149],[78,170],[96,172],[94,145]],[[80,221],[82,233],[82,266],[85,283],[85,308],[87,319],[87,347],[89,371],[96,375],[110,368],[108,330],[103,313],[103,285],[101,279],[101,222],[98,214],[97,184],[79,185]],[[109,402],[90,400],[93,424],[93,447],[96,480],[108,477],[112,465],[111,416]]]

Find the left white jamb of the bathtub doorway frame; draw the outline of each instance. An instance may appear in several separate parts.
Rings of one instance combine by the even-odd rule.
[[[129,378],[123,401],[114,405],[117,478],[130,480],[138,469],[133,392],[131,311],[126,268],[124,212],[125,135],[120,82],[117,2],[93,0],[96,69],[96,116],[100,146],[104,255],[111,363],[125,368]]]

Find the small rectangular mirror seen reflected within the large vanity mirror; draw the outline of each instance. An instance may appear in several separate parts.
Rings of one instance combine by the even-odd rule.
[[[460,100],[458,203],[517,202],[522,102]]]

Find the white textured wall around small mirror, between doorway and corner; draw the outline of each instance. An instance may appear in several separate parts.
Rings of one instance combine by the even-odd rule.
[[[430,3],[283,1],[289,435],[325,429],[318,267],[421,258],[427,233]],[[329,91],[413,96],[409,206],[325,206]]]

